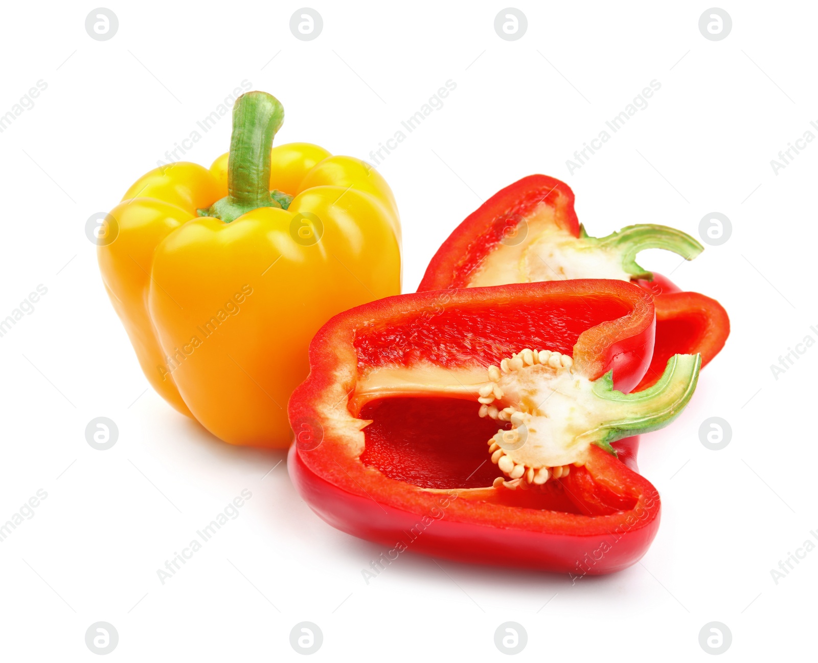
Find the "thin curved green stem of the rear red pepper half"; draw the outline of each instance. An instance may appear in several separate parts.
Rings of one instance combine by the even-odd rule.
[[[654,223],[640,223],[622,228],[607,237],[587,237],[600,248],[616,248],[622,251],[622,269],[633,278],[653,279],[654,275],[636,264],[636,254],[645,249],[665,249],[692,260],[704,247],[686,232],[658,226]]]

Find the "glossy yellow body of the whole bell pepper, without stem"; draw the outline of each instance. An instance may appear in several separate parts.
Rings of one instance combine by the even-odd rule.
[[[196,210],[227,195],[227,155],[151,170],[111,210],[119,234],[98,258],[155,390],[230,444],[286,447],[312,336],[400,292],[400,222],[380,174],[307,143],[272,149],[270,188],[295,196],[289,210],[224,223]],[[316,243],[299,213],[321,220]]]

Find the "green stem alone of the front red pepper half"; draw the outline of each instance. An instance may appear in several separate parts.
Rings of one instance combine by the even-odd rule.
[[[612,372],[594,381],[594,395],[601,399],[600,409],[607,421],[585,435],[594,444],[613,453],[610,443],[623,437],[657,431],[681,414],[696,388],[700,354],[674,354],[654,386],[635,394],[613,390]]]

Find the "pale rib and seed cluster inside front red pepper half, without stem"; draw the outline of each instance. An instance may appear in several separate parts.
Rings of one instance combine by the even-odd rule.
[[[434,363],[375,368],[358,378],[350,408],[360,413],[371,399],[439,395],[479,401],[479,416],[511,422],[488,440],[489,453],[507,479],[495,488],[528,488],[567,476],[585,464],[592,436],[607,408],[591,391],[591,381],[573,371],[568,354],[522,350],[499,366],[444,368]],[[526,441],[519,449],[519,431]]]

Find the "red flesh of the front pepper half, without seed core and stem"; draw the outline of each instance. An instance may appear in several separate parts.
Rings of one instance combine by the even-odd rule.
[[[398,551],[581,575],[630,566],[658,528],[648,480],[591,444],[567,476],[495,487],[485,440],[497,422],[463,390],[435,391],[434,375],[544,347],[631,389],[653,350],[652,299],[587,279],[398,295],[340,313],[312,340],[310,375],[290,398],[296,489],[330,525]],[[425,377],[429,394],[416,393]]]

